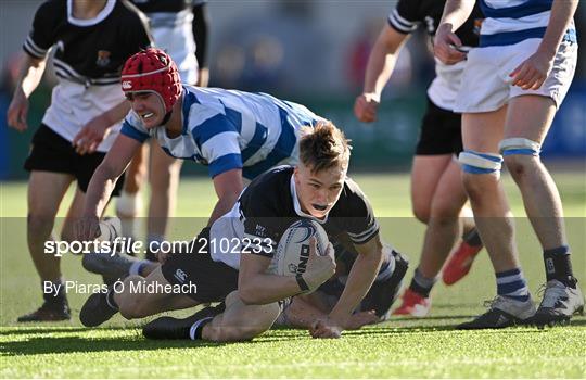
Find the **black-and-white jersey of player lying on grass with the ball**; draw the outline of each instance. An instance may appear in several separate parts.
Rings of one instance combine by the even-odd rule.
[[[253,180],[238,202],[209,230],[209,252],[216,262],[240,267],[244,250],[272,257],[284,231],[302,218],[318,221],[330,240],[365,244],[379,233],[372,206],[358,185],[346,178],[340,199],[323,219],[301,210],[292,166],[279,166]]]

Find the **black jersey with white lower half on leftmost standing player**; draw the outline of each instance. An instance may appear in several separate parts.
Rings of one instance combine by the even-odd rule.
[[[23,49],[44,59],[53,47],[59,84],[42,122],[72,141],[93,117],[124,101],[120,71],[126,60],[151,45],[146,18],[126,0],[107,0],[91,20],[73,15],[73,0],[42,3]],[[98,147],[106,152],[119,124]]]

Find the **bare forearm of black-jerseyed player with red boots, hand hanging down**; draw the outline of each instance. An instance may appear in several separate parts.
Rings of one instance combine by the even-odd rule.
[[[377,119],[381,93],[395,69],[397,56],[408,37],[409,35],[398,33],[388,24],[381,30],[368,59],[364,91],[354,102],[354,114],[360,122],[371,123]]]

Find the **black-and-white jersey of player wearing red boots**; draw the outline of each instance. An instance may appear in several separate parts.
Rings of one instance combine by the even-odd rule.
[[[411,34],[423,26],[430,37],[435,36],[444,12],[445,0],[399,0],[388,15],[388,25],[400,34]],[[467,47],[479,46],[480,26],[484,16],[477,5],[456,31]],[[431,101],[444,109],[454,110],[466,62],[446,65],[435,59],[435,78],[428,89]]]

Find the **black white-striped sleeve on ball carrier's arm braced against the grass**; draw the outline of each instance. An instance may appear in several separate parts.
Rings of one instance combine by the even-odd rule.
[[[365,193],[352,180],[348,182],[348,216],[345,217],[345,229],[354,244],[366,244],[379,233],[379,221]]]

